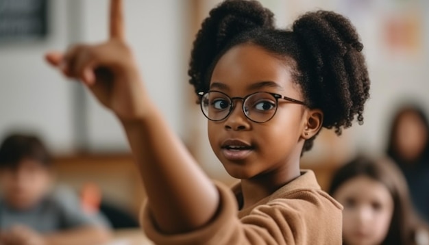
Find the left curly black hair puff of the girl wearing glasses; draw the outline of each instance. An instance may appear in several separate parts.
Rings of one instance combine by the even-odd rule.
[[[227,0],[210,11],[193,43],[188,75],[195,92],[210,65],[232,38],[256,28],[274,28],[273,13],[258,1]]]

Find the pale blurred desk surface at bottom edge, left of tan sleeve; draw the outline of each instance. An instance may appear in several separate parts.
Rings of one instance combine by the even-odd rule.
[[[113,233],[113,240],[106,245],[154,245],[141,229],[123,229]]]

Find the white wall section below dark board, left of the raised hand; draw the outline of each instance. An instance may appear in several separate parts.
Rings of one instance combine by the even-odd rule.
[[[67,43],[66,1],[51,1],[47,40],[0,43],[0,136],[11,129],[37,131],[58,151],[73,145],[71,86],[43,61]]]

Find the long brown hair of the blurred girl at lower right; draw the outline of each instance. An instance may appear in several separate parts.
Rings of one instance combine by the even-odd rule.
[[[356,157],[336,171],[330,185],[330,195],[333,196],[336,190],[350,179],[361,176],[382,183],[393,198],[393,216],[389,232],[382,244],[415,244],[417,232],[427,229],[427,227],[417,218],[413,205],[410,203],[404,176],[391,162],[391,159]]]

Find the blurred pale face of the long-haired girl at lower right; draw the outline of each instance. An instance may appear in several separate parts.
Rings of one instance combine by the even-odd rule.
[[[366,176],[343,183],[334,198],[343,207],[343,240],[347,245],[377,245],[387,236],[393,199],[387,188]]]

